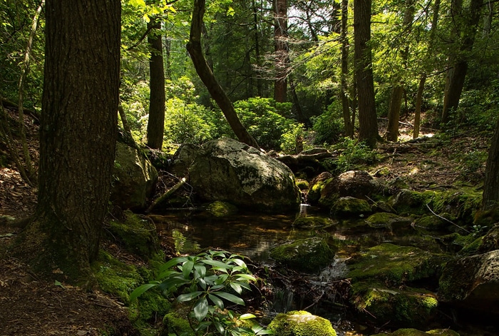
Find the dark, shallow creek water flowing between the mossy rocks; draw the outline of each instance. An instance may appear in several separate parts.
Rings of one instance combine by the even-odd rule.
[[[289,240],[309,238],[317,230],[298,230],[292,223],[298,215],[321,215],[314,213],[313,208],[300,207],[297,213],[288,215],[267,215],[261,213],[238,213],[223,218],[214,218],[202,210],[178,210],[163,214],[150,215],[155,222],[160,237],[174,245],[178,253],[195,253],[200,249],[221,248],[232,253],[239,253],[262,265],[273,265],[269,251]],[[334,218],[333,218],[334,220]],[[344,240],[344,248],[336,253],[336,259],[328,268],[317,270],[307,279],[311,282],[329,282],[341,279],[347,272],[344,260],[352,254],[381,243],[396,245],[413,245],[423,250],[441,253],[446,252],[443,245],[436,243],[433,237],[421,235],[406,225],[405,228],[368,228],[364,218],[350,220],[334,220],[334,225],[320,229],[332,235],[336,240]],[[271,307],[273,313],[302,309],[292,292],[283,288],[276,293]],[[339,336],[365,336],[376,332],[368,330],[347,317],[343,308],[323,310],[315,305],[310,312],[328,318],[333,323]],[[381,326],[379,326],[381,327]],[[441,327],[448,327],[441,326]],[[469,327],[469,325],[467,325]],[[473,330],[476,330],[473,326]],[[453,327],[456,330],[456,327]],[[461,332],[467,335],[496,335],[480,331]],[[475,333],[476,332],[476,333]]]

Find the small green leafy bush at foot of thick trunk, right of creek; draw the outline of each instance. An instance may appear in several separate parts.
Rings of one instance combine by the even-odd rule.
[[[336,166],[340,173],[348,170],[360,168],[376,162],[376,153],[365,143],[351,138],[344,138],[342,143],[334,146],[334,149],[341,151]]]

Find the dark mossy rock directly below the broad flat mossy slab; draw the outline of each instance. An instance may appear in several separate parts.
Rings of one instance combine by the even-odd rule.
[[[408,327],[426,325],[435,317],[438,306],[435,295],[428,290],[388,288],[367,282],[354,283],[350,301],[365,320]]]

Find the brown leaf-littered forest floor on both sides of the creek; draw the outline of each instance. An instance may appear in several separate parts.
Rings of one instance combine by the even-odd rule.
[[[15,117],[15,111],[9,113]],[[380,120],[380,134],[385,123]],[[401,141],[410,139],[410,125],[410,120],[401,123]],[[30,151],[38,158],[37,126],[26,118],[26,128]],[[431,129],[422,130],[422,136],[431,136]],[[479,189],[490,137],[491,131],[467,130],[412,143],[384,143],[376,150],[379,161],[369,171],[386,179],[400,178],[414,190],[456,186]],[[5,154],[0,142],[0,158]],[[9,255],[9,244],[19,229],[7,225],[6,216],[20,219],[34,213],[36,192],[15,166],[0,165],[0,252],[6,250],[0,258],[0,336],[100,335],[99,330],[109,327],[119,335],[137,335],[126,308],[113,297],[38,278],[27,265]]]

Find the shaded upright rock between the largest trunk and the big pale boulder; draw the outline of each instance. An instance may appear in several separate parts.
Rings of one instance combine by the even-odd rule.
[[[153,193],[158,172],[150,161],[135,148],[116,143],[113,187],[110,200],[125,209],[143,209]]]

